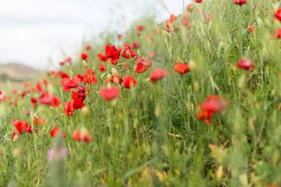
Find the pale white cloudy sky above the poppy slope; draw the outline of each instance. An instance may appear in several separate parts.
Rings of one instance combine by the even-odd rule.
[[[79,52],[83,41],[122,33],[145,15],[166,20],[189,0],[0,0],[0,64],[55,67]],[[52,65],[50,62],[53,62]]]

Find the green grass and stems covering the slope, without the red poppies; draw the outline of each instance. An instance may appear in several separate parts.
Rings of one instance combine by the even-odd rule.
[[[273,18],[280,1],[249,0],[244,6],[223,2],[193,4],[190,29],[181,25],[181,17],[174,23],[177,32],[165,32],[164,24],[150,18],[138,22],[145,25],[141,36],[136,36],[136,27],[130,29],[124,41],[141,43],[136,52],[143,57],[149,52],[157,57],[144,74],[133,73],[134,60],[122,60],[132,69],[122,69],[122,62],[115,67],[120,76],[133,75],[138,81],[136,88],[122,90],[117,102],[96,94],[104,87],[96,57],[104,46],[93,46],[88,68],[96,69],[98,85],[87,85],[87,117],[81,111],[65,116],[63,106],[32,109],[30,97],[37,93],[18,100],[16,107],[0,103],[1,186],[48,186],[48,180],[56,180],[49,177],[47,160],[55,144],[48,134],[54,125],[67,134],[67,160],[58,163],[65,186],[281,185],[281,49],[280,41],[270,39],[281,27]],[[249,32],[252,25],[256,31]],[[253,60],[253,71],[235,67],[242,57]],[[175,62],[190,62],[191,72],[177,74]],[[107,71],[111,67],[107,63]],[[155,67],[168,69],[169,76],[152,84],[146,79]],[[61,70],[84,74],[81,61]],[[63,105],[71,92],[63,92],[58,79],[48,79],[53,84],[48,89]],[[228,108],[207,126],[195,113],[197,103],[209,95],[221,95]],[[38,134],[22,134],[13,142],[11,119],[32,124],[25,109],[44,117],[46,124],[38,127]],[[72,140],[72,132],[81,127],[91,132],[92,143]]]

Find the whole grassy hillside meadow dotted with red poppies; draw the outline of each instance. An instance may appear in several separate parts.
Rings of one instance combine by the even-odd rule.
[[[281,186],[281,1],[100,37],[0,91],[0,186]]]

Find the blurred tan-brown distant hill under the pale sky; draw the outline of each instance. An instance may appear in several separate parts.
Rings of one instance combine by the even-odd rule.
[[[23,82],[30,79],[32,76],[39,74],[39,71],[32,67],[27,67],[22,64],[8,63],[0,64],[0,81],[16,81]]]

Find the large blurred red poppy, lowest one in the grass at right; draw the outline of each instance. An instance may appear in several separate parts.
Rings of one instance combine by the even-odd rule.
[[[226,109],[227,104],[228,102],[221,99],[220,95],[211,95],[203,104],[198,104],[200,113],[197,113],[196,117],[199,120],[205,120],[205,123],[209,124],[211,123],[211,116]]]

